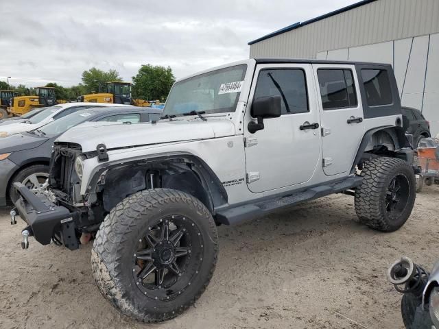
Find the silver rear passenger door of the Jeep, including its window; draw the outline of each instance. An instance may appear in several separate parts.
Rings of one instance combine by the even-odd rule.
[[[323,171],[351,171],[364,136],[364,115],[354,65],[313,64],[322,123]]]

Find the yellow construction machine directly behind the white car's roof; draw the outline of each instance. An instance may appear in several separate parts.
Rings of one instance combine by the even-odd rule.
[[[99,90],[99,93],[82,95],[78,97],[78,101],[127,104],[140,107],[151,106],[154,103],[154,101],[132,99],[130,82],[107,82],[104,89],[106,93],[101,93]]]

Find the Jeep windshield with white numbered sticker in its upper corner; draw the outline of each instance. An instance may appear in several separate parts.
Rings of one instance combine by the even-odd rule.
[[[162,115],[235,112],[246,69],[246,64],[230,66],[176,82]]]

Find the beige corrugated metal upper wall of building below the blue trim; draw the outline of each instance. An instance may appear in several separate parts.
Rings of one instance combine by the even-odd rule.
[[[316,58],[321,51],[439,32],[439,0],[379,0],[250,45],[250,58]]]

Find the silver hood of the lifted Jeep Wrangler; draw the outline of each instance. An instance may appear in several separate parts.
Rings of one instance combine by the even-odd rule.
[[[225,118],[161,120],[158,123],[111,124],[82,123],[67,130],[56,141],[80,144],[83,152],[96,151],[99,144],[107,149],[139,145],[193,141],[233,136],[235,125]]]

